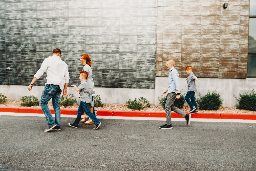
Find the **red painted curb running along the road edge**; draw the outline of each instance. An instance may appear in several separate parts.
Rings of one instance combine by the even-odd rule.
[[[50,109],[54,114],[54,109]],[[77,110],[61,109],[61,114],[76,115]],[[43,113],[40,108],[0,108],[0,112],[14,112],[14,113]],[[165,112],[147,112],[147,111],[112,111],[112,110],[98,110],[98,116],[125,116],[125,117],[163,117]],[[173,118],[183,118],[178,113],[172,112]],[[256,120],[256,114],[233,114],[233,113],[193,113],[191,118],[197,119],[244,119]]]

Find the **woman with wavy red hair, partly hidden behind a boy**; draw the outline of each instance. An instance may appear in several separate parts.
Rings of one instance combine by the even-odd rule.
[[[90,103],[89,108],[90,108],[90,111],[95,116],[97,116],[97,110],[94,110],[94,105],[93,105],[93,96],[95,96],[95,87],[94,87],[94,82],[93,82],[93,79],[92,79],[92,69],[91,69],[92,59],[90,58],[90,56],[88,54],[83,54],[80,57],[80,61],[83,64],[82,71],[88,72],[87,83],[89,85],[89,88],[91,89],[91,93],[90,94],[92,96],[92,102]],[[80,102],[80,99],[79,99],[79,102]],[[84,122],[84,124],[87,124],[87,125],[93,124],[93,121],[91,119],[89,119],[89,117],[87,115],[81,120],[81,122]]]

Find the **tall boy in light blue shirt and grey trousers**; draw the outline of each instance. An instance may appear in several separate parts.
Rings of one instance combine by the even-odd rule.
[[[160,129],[172,129],[173,128],[172,123],[171,123],[171,110],[180,114],[181,116],[185,117],[185,119],[187,121],[187,125],[190,124],[191,114],[190,113],[186,114],[185,112],[183,112],[182,110],[180,110],[179,108],[174,106],[175,99],[180,98],[179,73],[174,68],[174,64],[175,64],[175,62],[173,59],[168,59],[166,61],[166,67],[169,70],[168,88],[163,93],[163,94],[166,94],[166,93],[168,94],[166,103],[165,103],[165,107],[164,107],[164,110],[166,113],[166,124],[163,126],[159,126]]]

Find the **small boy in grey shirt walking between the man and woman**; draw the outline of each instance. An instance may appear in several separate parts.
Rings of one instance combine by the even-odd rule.
[[[77,110],[77,118],[74,123],[68,123],[70,127],[77,128],[79,121],[81,120],[81,116],[83,113],[85,113],[95,124],[95,127],[93,129],[98,129],[101,125],[101,122],[97,119],[97,117],[90,111],[89,104],[92,102],[92,97],[90,96],[89,86],[87,84],[87,78],[88,78],[88,72],[81,71],[79,80],[81,81],[81,84],[77,87],[76,85],[71,85],[71,87],[74,87],[77,91],[80,91],[80,105]]]

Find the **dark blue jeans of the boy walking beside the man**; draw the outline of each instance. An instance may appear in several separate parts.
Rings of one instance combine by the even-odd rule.
[[[85,113],[94,122],[95,125],[97,125],[100,122],[97,119],[97,117],[90,111],[89,104],[90,103],[86,103],[86,102],[82,102],[82,101],[80,102],[79,108],[77,110],[77,118],[76,118],[75,122],[73,123],[73,125],[78,126],[83,113]]]

